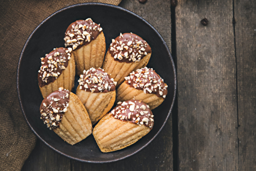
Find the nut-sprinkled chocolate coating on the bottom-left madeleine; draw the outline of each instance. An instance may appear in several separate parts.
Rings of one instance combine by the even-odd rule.
[[[59,88],[42,100],[40,105],[41,119],[47,124],[50,130],[58,127],[63,114],[67,112],[69,95],[70,92],[68,90]]]

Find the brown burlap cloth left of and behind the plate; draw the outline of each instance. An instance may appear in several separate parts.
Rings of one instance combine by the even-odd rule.
[[[118,5],[121,0],[2,0],[0,1],[0,170],[20,170],[36,137],[20,110],[16,69],[31,32],[55,11],[79,3]]]

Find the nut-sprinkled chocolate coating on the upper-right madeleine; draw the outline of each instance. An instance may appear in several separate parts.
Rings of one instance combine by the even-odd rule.
[[[140,36],[133,33],[120,34],[112,39],[109,53],[119,62],[138,62],[151,53],[151,47]]]

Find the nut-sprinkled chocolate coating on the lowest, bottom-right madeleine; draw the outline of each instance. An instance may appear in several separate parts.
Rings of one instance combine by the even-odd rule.
[[[152,129],[154,125],[154,115],[150,106],[141,100],[128,100],[118,102],[118,105],[110,112],[116,119],[130,121],[134,124],[145,125]]]

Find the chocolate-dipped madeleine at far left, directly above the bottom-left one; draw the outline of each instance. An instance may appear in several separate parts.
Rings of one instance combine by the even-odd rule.
[[[54,49],[41,58],[37,79],[44,98],[59,87],[72,91],[75,81],[74,56],[67,48]]]

